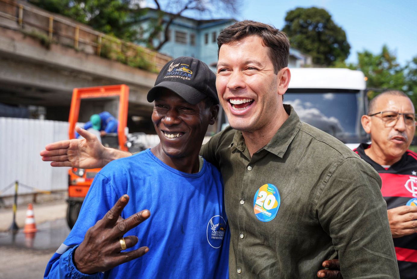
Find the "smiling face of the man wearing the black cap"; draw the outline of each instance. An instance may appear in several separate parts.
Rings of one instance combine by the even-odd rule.
[[[152,113],[163,151],[159,152],[161,156],[197,156],[208,125],[216,120],[218,108],[218,105],[207,107],[205,100],[191,105],[171,90],[161,90],[155,98]]]

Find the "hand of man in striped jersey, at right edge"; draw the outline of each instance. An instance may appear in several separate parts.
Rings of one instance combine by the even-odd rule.
[[[398,206],[388,209],[389,228],[393,238],[417,231],[417,206]]]

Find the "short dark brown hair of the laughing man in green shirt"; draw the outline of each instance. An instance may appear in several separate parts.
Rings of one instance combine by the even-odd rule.
[[[273,25],[253,20],[243,20],[223,29],[217,37],[217,57],[223,44],[237,42],[250,35],[257,35],[262,39],[264,46],[270,48],[269,58],[274,65],[274,73],[288,66],[290,43],[286,34]]]

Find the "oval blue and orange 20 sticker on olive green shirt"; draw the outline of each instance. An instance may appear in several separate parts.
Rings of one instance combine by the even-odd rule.
[[[254,196],[254,212],[256,218],[262,222],[269,222],[278,213],[281,197],[275,185],[262,185]]]

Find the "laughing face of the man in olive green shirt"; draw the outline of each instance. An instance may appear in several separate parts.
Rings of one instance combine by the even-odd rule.
[[[269,47],[250,35],[224,44],[219,50],[216,88],[230,126],[240,131],[267,129],[281,112],[286,88],[281,77],[288,68],[274,73]]]

